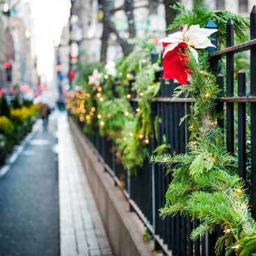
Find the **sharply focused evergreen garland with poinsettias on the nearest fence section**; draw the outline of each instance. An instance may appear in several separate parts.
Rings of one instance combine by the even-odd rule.
[[[209,19],[213,19],[218,25],[218,39],[222,44],[225,42],[225,24],[228,17],[232,17],[236,40],[241,42],[246,39],[243,31],[248,29],[249,24],[238,15],[213,13],[202,8],[200,3],[195,6],[194,12],[186,11],[181,3],[173,8],[181,13],[175,18],[171,29],[182,26],[189,31],[196,26],[199,31]],[[205,35],[209,36],[211,32],[205,30]],[[207,47],[208,41],[200,35],[198,38]],[[223,132],[216,122],[219,89],[209,67],[208,53],[205,49],[195,53],[195,48],[199,47],[195,47],[195,42],[191,43],[188,36],[184,37],[182,31],[162,41],[166,58],[163,67],[168,68],[170,58],[179,61],[175,70],[164,70],[164,73],[181,83],[186,83],[187,74],[191,77],[188,86],[179,86],[175,90],[174,97],[185,93],[194,97],[196,102],[191,105],[189,115],[191,136],[188,153],[176,156],[162,154],[150,159],[154,163],[173,167],[173,180],[166,192],[166,205],[160,210],[161,216],[179,212],[200,220],[200,225],[191,233],[192,239],[202,238],[205,232],[211,233],[221,226],[223,236],[216,242],[216,255],[221,254],[223,246],[227,255],[234,251],[240,256],[256,255],[256,224],[250,214],[250,200],[237,174],[237,159],[223,145]],[[186,74],[182,75],[181,70]]]

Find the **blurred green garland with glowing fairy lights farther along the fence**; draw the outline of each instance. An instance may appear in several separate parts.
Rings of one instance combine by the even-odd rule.
[[[159,65],[151,63],[152,42],[136,42],[138,46],[129,56],[116,61],[116,77],[106,74],[99,65],[79,65],[77,84],[80,89],[70,95],[67,108],[84,123],[83,131],[113,139],[116,154],[131,172],[143,166],[147,157],[147,144],[153,136],[152,99],[160,83],[155,81]],[[88,77],[97,68],[102,73],[100,86],[88,84]],[[132,86],[130,87],[132,83]],[[127,97],[130,90],[138,95],[138,109],[134,111]]]

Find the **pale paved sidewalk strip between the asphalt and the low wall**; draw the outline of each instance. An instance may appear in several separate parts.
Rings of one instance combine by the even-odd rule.
[[[61,256],[113,255],[64,113],[58,118],[58,175]]]

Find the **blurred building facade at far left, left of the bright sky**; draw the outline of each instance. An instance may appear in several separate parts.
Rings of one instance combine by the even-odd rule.
[[[35,79],[32,54],[33,19],[31,6],[23,1],[0,2],[0,88],[13,90],[26,83],[33,86]],[[3,15],[8,10],[10,15]],[[12,81],[6,81],[5,63],[12,67]]]

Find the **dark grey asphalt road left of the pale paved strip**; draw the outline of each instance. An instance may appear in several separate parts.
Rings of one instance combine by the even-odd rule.
[[[0,179],[0,256],[58,256],[56,114]]]

